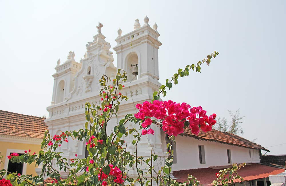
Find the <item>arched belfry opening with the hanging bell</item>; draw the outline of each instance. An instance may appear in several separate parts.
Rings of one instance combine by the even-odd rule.
[[[138,55],[135,52],[128,54],[125,59],[125,71],[127,72],[127,77],[128,77],[127,82],[138,79],[138,74],[137,75],[134,74],[135,71],[137,71],[138,73],[138,68],[136,68],[136,64],[137,67],[139,67]]]

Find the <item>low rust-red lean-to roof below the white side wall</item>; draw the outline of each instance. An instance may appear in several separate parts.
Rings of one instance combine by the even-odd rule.
[[[173,171],[173,175],[178,182],[187,181],[188,174],[196,177],[202,185],[210,185],[213,180],[217,179],[215,173],[219,172],[220,169],[189,169],[182,171]],[[267,178],[269,175],[280,174],[284,172],[284,169],[270,167],[267,165],[262,165],[259,163],[251,163],[242,167],[237,171],[238,175],[243,177],[244,181],[250,181],[255,179]],[[240,182],[238,179],[235,179],[234,182]]]

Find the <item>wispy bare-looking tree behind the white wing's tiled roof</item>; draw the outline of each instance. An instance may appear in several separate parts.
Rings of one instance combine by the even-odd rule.
[[[240,116],[240,110],[237,109],[235,112],[231,110],[227,110],[232,117],[231,122],[228,122],[225,117],[217,118],[217,123],[213,126],[214,129],[222,131],[222,132],[229,132],[232,134],[242,135],[243,129],[241,128],[240,124],[245,116]]]

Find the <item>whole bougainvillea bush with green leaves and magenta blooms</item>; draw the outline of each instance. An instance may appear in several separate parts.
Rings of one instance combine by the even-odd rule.
[[[116,78],[110,79],[103,75],[99,80],[102,86],[100,90],[101,104],[91,105],[86,103],[85,116],[86,123],[84,129],[77,131],[65,131],[60,135],[50,136],[49,132],[41,144],[42,150],[39,153],[32,153],[30,150],[25,154],[11,154],[8,156],[11,162],[33,163],[42,165],[41,175],[18,175],[10,173],[5,179],[4,175],[8,173],[1,170],[2,183],[9,185],[200,185],[196,178],[189,176],[185,183],[178,183],[171,179],[171,167],[173,163],[172,144],[175,143],[176,136],[184,132],[185,127],[189,127],[194,134],[198,134],[199,128],[203,132],[210,131],[212,125],[216,123],[216,114],[207,115],[201,106],[190,106],[187,103],[176,103],[172,100],[162,101],[160,96],[166,96],[167,89],[172,88],[172,84],[178,83],[178,77],[188,76],[191,70],[200,72],[201,65],[210,64],[210,60],[219,53],[213,52],[199,61],[196,65],[188,65],[185,69],[179,69],[166,84],[162,85],[158,91],[154,92],[152,101],[145,101],[137,104],[139,110],[136,114],[127,114],[118,124],[111,123],[111,118],[116,116],[119,110],[120,102],[127,100],[127,96],[121,93],[126,82],[126,72],[118,69]],[[134,123],[138,127],[127,128],[126,123]],[[112,132],[107,133],[107,126],[115,126]],[[142,135],[156,135],[150,127],[156,125],[160,127],[170,139],[167,145],[168,151],[166,162],[160,169],[154,169],[153,163],[158,155],[150,154],[150,158],[143,158],[137,155],[137,145]],[[127,145],[124,139],[132,135],[134,140],[134,152],[127,151]],[[57,148],[62,143],[68,143],[68,138],[72,137],[80,141],[86,141],[88,157],[84,159],[75,158],[67,160],[62,157],[62,153]],[[56,161],[53,161],[53,160]],[[190,160],[192,161],[192,160]],[[56,162],[56,165],[53,164]],[[143,166],[144,164],[144,166]],[[235,165],[236,166],[236,165]],[[233,167],[227,171],[219,173],[215,184],[225,184],[225,179],[240,178],[236,171],[240,166]],[[134,169],[137,173],[131,177],[128,170]],[[146,171],[147,170],[147,171]],[[61,178],[59,171],[65,171],[67,177]],[[233,177],[226,177],[231,172]],[[44,183],[47,178],[52,179],[52,183]],[[8,181],[6,179],[9,179]],[[220,180],[225,180],[220,182]],[[9,183],[8,183],[9,182]],[[3,184],[2,184],[3,185]]]

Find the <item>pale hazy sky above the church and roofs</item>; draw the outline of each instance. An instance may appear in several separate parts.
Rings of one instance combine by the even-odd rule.
[[[286,1],[0,1],[0,110],[48,115],[54,67],[76,61],[97,33],[112,47],[135,19],[158,25],[160,82],[218,51],[201,74],[180,78],[166,99],[229,117],[241,109],[244,138],[286,154]],[[112,50],[113,51],[113,50]],[[114,52],[114,51],[113,51]],[[114,55],[116,62],[116,54]],[[116,63],[115,63],[116,65]],[[283,145],[279,145],[283,144]],[[278,145],[275,147],[270,147]]]

